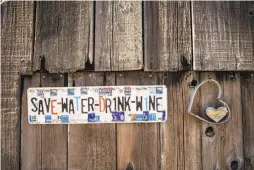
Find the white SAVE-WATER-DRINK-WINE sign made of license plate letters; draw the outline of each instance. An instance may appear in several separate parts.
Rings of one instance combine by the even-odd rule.
[[[164,122],[167,88],[86,86],[29,88],[31,124]]]

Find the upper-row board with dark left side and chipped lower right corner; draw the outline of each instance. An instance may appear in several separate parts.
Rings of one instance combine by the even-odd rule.
[[[144,2],[145,70],[190,70],[190,2]]]

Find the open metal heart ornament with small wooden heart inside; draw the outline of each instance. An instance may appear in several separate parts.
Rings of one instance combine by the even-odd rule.
[[[194,101],[194,97],[198,91],[198,89],[205,83],[207,82],[212,82],[212,83],[215,83],[219,89],[219,94],[217,96],[217,101],[221,104],[223,104],[223,106],[221,107],[218,107],[218,108],[214,108],[214,107],[207,107],[206,108],[206,115],[213,121],[210,121],[210,120],[206,120],[200,116],[198,116],[197,114],[193,113],[191,111],[192,109],[192,105],[193,105],[193,101]],[[189,104],[189,108],[188,108],[188,112],[197,117],[198,119],[202,120],[202,121],[205,121],[207,123],[213,123],[213,124],[219,124],[219,123],[224,123],[226,122],[229,118],[230,118],[230,115],[231,115],[231,111],[230,111],[230,108],[229,106],[227,105],[227,103],[225,103],[223,100],[221,100],[221,95],[222,95],[222,90],[221,90],[221,86],[219,84],[219,82],[217,82],[216,80],[213,80],[213,79],[208,79],[208,80],[205,80],[203,81],[202,83],[200,83],[198,86],[196,86],[192,96],[191,96],[191,99],[190,99],[190,104]],[[227,116],[227,117],[226,117]],[[226,118],[225,118],[226,117]],[[225,118],[225,119],[224,119]],[[224,120],[223,120],[224,119]]]

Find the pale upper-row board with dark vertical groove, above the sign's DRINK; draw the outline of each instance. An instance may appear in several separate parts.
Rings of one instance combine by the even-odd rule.
[[[141,2],[96,2],[96,71],[143,68],[141,20]]]

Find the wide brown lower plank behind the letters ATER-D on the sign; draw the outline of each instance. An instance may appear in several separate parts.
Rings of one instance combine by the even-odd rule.
[[[114,73],[75,73],[69,75],[69,86],[115,85]],[[69,125],[68,168],[116,168],[115,124]]]

